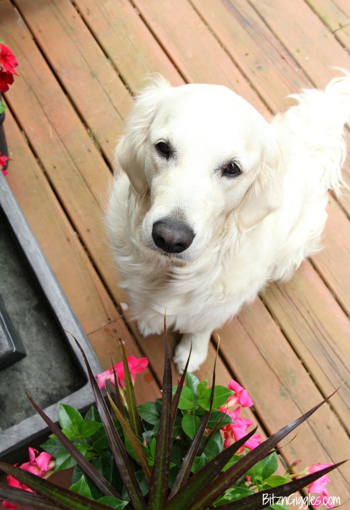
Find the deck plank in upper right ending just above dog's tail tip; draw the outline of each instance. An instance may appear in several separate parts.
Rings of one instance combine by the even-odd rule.
[[[350,69],[348,53],[304,0],[251,4],[317,87],[323,88],[335,75],[332,66]]]

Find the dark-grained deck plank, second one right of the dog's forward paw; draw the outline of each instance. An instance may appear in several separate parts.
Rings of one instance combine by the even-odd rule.
[[[341,386],[332,406],[349,430],[348,317],[309,262],[303,263],[286,284],[271,285],[263,298],[322,394],[327,396]]]

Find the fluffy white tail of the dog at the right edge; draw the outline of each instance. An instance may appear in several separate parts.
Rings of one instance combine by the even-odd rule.
[[[344,126],[350,125],[350,73],[333,78],[324,90],[305,89],[292,94],[298,104],[285,114],[283,125],[298,130],[297,138],[322,168],[322,184],[336,193],[345,186],[341,168],[346,158]]]

